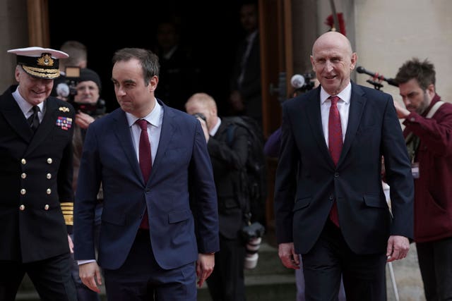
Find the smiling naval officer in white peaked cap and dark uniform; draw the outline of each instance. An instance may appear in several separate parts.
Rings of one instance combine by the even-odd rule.
[[[68,235],[75,111],[49,96],[68,55],[41,47],[8,53],[17,55],[18,85],[0,96],[0,300],[15,300],[25,273],[42,300],[76,300]]]

